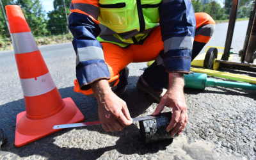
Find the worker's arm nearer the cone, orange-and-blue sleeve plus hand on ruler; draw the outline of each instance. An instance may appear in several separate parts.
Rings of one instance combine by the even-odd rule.
[[[68,28],[74,36],[76,77],[81,90],[92,87],[99,104],[99,118],[105,131],[120,131],[132,120],[124,100],[113,93],[107,79],[108,65],[104,61],[100,34],[98,0],[72,1]]]

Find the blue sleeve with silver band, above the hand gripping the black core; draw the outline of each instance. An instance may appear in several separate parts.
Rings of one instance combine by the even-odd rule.
[[[188,74],[196,28],[191,1],[163,0],[159,15],[166,71]]]

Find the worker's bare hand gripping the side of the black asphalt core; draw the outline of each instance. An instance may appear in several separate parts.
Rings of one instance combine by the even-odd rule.
[[[176,133],[180,135],[185,129],[188,122],[188,113],[183,92],[183,74],[169,74],[169,81],[169,88],[161,98],[153,115],[159,115],[163,111],[164,106],[172,108],[172,120],[166,127],[166,131],[169,132],[172,130],[171,135],[174,136]]]

